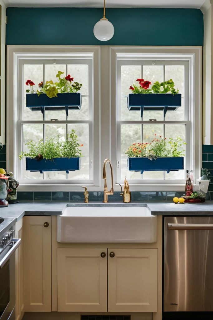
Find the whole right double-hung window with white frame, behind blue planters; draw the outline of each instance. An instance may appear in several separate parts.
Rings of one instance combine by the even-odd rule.
[[[131,50],[133,52],[134,49]],[[153,52],[146,53],[135,49],[130,53],[128,49],[122,51],[121,48],[115,48],[112,51],[112,65],[116,65],[116,72],[112,71],[112,87],[115,87],[116,99],[112,98],[112,128],[115,129],[116,143],[112,140],[112,152],[116,155],[116,181],[123,183],[125,177],[128,179],[132,188],[138,190],[137,186],[150,186],[151,188],[163,190],[169,185],[181,186],[186,181],[186,170],[193,170],[195,175],[199,174],[201,141],[201,78],[199,55],[197,65],[195,55],[174,53],[160,53],[157,48]],[[126,51],[126,52],[125,52]],[[161,50],[162,51],[162,50]],[[177,50],[178,51],[178,50]],[[137,52],[137,53],[136,53]],[[155,53],[154,53],[155,52]],[[199,63],[198,63],[199,62]],[[113,68],[113,67],[112,67]],[[164,82],[172,79],[175,83],[175,89],[181,93],[181,106],[175,111],[167,111],[164,115],[164,109],[153,108],[141,112],[130,111],[127,108],[128,94],[132,94],[130,86],[138,82],[138,78],[143,78],[151,82],[149,88],[155,81]],[[115,86],[114,86],[115,83]],[[195,87],[199,92],[195,91]],[[112,93],[113,94],[113,93]],[[136,93],[135,93],[136,94]],[[197,95],[197,100],[195,100]],[[165,117],[164,117],[165,116]],[[114,121],[115,118],[115,121]],[[186,144],[182,145],[184,149],[184,169],[179,171],[144,171],[133,172],[127,168],[126,150],[133,143],[150,143],[154,138],[175,139],[181,137]],[[150,160],[154,161],[154,160]],[[160,187],[162,186],[162,187]],[[178,189],[173,187],[174,189]],[[182,188],[182,187],[181,187]],[[150,188],[149,188],[150,189]],[[159,189],[160,190],[160,189]]]

